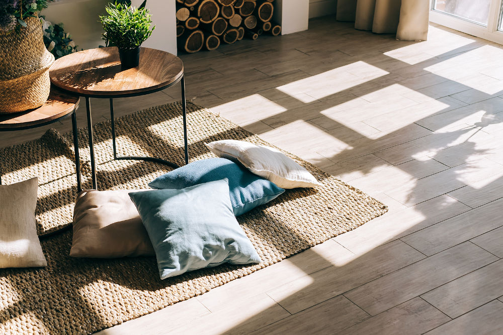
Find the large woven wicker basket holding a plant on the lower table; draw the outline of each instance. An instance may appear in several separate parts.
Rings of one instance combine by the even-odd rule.
[[[38,18],[47,3],[0,1],[0,114],[37,108],[47,101],[54,56],[45,48]]]

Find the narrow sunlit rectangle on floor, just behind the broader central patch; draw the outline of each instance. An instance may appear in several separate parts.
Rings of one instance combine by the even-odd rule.
[[[296,99],[309,103],[389,74],[363,61],[344,65],[277,87]],[[305,93],[307,95],[301,95]]]

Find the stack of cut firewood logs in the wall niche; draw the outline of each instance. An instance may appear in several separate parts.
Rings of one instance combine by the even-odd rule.
[[[281,33],[281,26],[271,22],[274,0],[176,1],[178,47],[189,53]]]

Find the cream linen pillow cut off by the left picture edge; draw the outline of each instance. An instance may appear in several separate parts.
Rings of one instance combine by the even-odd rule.
[[[37,236],[38,178],[0,185],[0,268],[47,266]]]

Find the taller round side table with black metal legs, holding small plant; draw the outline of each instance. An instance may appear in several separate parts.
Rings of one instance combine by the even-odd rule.
[[[113,99],[157,92],[181,81],[185,164],[188,164],[189,152],[187,145],[184,65],[182,60],[177,56],[161,50],[141,48],[140,65],[131,69],[121,70],[119,52],[116,47],[84,50],[56,60],[50,68],[50,78],[54,85],[79,96],[86,97],[93,188],[97,189],[98,185],[93,148],[91,103],[89,100],[91,97],[110,99],[114,159],[148,160],[178,168],[178,165],[160,158],[117,157]]]

